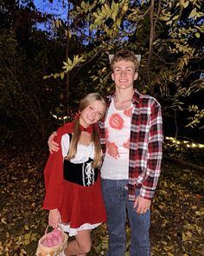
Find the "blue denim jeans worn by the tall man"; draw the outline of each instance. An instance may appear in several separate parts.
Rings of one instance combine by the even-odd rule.
[[[101,180],[109,232],[107,256],[124,256],[126,212],[131,226],[130,255],[150,256],[150,210],[143,214],[136,213],[134,201],[128,200],[128,192],[124,188],[128,181]],[[136,190],[136,195],[138,194],[139,189]]]

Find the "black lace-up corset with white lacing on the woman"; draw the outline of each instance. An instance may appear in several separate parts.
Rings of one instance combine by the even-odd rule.
[[[81,186],[89,187],[97,181],[99,176],[99,167],[92,167],[92,159],[83,163],[73,163],[64,160],[64,179]]]

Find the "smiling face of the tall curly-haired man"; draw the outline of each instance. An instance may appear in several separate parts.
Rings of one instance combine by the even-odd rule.
[[[117,89],[133,88],[137,75],[134,62],[119,61],[113,63],[112,80],[115,82]]]

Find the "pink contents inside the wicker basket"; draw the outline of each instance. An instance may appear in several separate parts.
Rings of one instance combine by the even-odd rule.
[[[54,247],[61,244],[63,241],[61,230],[54,229],[48,233],[45,239],[41,240],[41,245],[45,247]]]

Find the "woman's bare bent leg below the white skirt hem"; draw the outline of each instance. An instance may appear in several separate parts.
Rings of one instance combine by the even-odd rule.
[[[72,240],[68,243],[67,248],[64,250],[64,253],[67,256],[79,255],[85,256],[86,253],[91,251],[92,240],[90,235],[90,230],[79,231],[75,240]]]

